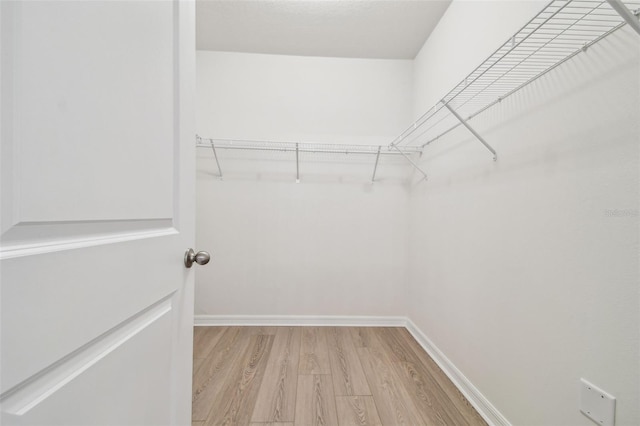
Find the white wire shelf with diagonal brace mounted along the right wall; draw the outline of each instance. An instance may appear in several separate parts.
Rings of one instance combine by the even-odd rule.
[[[629,23],[640,34],[640,0],[553,0],[389,145],[424,148]]]

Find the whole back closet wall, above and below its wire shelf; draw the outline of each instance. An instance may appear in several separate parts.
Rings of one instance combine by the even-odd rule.
[[[204,137],[387,144],[412,61],[198,52]],[[404,315],[407,168],[371,157],[198,150],[196,314]],[[331,161],[328,161],[331,160]],[[401,160],[403,161],[403,160]],[[402,164],[402,166],[400,166]]]

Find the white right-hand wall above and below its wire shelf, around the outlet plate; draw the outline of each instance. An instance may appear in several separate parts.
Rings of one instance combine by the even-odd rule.
[[[414,116],[539,8],[454,1],[416,60]],[[473,119],[496,163],[462,128],[421,163],[409,316],[513,424],[592,424],[581,377],[640,423],[639,43],[625,28]]]

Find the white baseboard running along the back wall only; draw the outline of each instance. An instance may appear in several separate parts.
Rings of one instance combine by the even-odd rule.
[[[406,327],[407,317],[351,315],[196,315],[194,325]]]

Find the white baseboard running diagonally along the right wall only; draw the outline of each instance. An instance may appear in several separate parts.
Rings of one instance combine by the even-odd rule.
[[[476,388],[473,383],[458,370],[453,362],[408,318],[406,328],[490,426],[511,426],[509,420],[480,393],[478,388]]]

